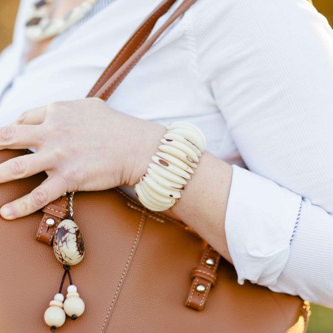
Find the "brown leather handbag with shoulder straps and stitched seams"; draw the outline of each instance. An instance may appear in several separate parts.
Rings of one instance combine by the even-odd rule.
[[[185,0],[149,39],[175,0],[164,0],[102,74],[89,96],[109,98],[166,27],[190,7]],[[28,151],[4,150],[0,163]],[[37,187],[46,174],[0,185],[0,205]],[[86,310],[57,332],[301,333],[309,304],[265,287],[238,285],[232,265],[189,227],[150,212],[118,189],[75,194],[75,221],[86,256],[72,267]],[[54,227],[68,214],[68,197],[15,221],[0,221],[0,333],[47,332],[43,314],[59,285]],[[36,236],[36,230],[37,236]],[[37,239],[37,240],[36,240]],[[201,285],[201,288],[197,288]],[[67,287],[67,285],[65,285]]]

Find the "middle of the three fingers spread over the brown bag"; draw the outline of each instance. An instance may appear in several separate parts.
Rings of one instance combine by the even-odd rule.
[[[52,158],[44,153],[28,154],[0,164],[0,184],[32,176],[52,167]]]

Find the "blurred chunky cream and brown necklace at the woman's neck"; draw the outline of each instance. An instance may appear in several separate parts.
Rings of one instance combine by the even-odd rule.
[[[97,0],[83,0],[81,4],[56,19],[51,19],[50,12],[55,0],[35,2],[27,16],[25,34],[28,40],[39,42],[58,35],[73,24],[79,22],[90,12]]]

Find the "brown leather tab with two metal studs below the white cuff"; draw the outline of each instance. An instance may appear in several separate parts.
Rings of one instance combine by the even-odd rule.
[[[185,302],[188,308],[197,311],[201,311],[204,308],[209,291],[216,282],[216,270],[220,257],[211,246],[207,246],[200,265],[192,270],[191,278],[193,280],[189,297]]]

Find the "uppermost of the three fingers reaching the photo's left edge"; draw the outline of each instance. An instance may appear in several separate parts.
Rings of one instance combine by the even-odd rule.
[[[0,127],[0,149],[38,147],[43,140],[39,125],[11,125]]]

